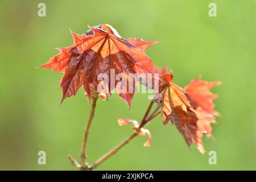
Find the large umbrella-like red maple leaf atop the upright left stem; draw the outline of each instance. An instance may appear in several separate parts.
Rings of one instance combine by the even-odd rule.
[[[134,79],[129,76],[130,73],[154,73],[156,67],[144,51],[156,42],[145,42],[141,39],[125,40],[108,24],[91,27],[86,35],[75,34],[72,31],[71,34],[74,44],[58,48],[60,53],[39,67],[64,72],[59,84],[63,89],[62,101],[75,96],[81,86],[90,99],[93,93],[98,93],[97,86],[101,84],[107,96],[117,87],[117,93],[130,107],[136,89],[133,88],[131,92],[122,82]],[[103,80],[97,79],[101,73],[105,73],[110,79],[111,69],[114,69],[114,76],[118,73],[124,75],[122,81],[114,81],[114,86],[110,85],[110,81],[106,85],[102,83]]]

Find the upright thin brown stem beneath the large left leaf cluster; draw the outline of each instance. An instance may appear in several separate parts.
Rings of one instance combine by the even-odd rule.
[[[80,154],[80,164],[81,166],[86,166],[86,144],[88,140],[88,134],[90,130],[90,124],[92,123],[92,119],[94,117],[94,111],[96,107],[96,101],[98,99],[98,94],[93,94],[92,96],[92,109],[90,110],[90,115],[88,118],[88,121],[86,123],[86,127],[84,130],[84,139],[82,140],[82,148],[81,148],[81,154]]]

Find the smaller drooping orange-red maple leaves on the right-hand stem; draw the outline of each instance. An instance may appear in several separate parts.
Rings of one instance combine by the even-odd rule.
[[[187,86],[187,90],[172,83],[173,77],[172,73],[164,75],[165,82],[160,86],[159,98],[156,100],[162,105],[162,120],[164,124],[167,124],[168,121],[174,123],[188,146],[195,143],[199,151],[204,153],[203,133],[207,134],[208,137],[211,136],[212,127],[210,123],[215,122],[212,114],[216,113],[216,111],[213,112],[214,105],[205,106],[209,103],[213,104],[212,100],[216,98],[212,97],[213,94],[209,92],[209,89],[220,83],[204,81],[204,86],[202,86],[200,80],[192,81],[192,84]],[[205,85],[208,85],[207,89]]]

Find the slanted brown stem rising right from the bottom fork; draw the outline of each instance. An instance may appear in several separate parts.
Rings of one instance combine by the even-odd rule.
[[[139,131],[135,130],[130,137],[123,140],[122,143],[118,144],[118,146],[114,147],[112,150],[110,150],[108,153],[106,153],[104,156],[102,156],[100,159],[98,159],[96,162],[92,164],[90,169],[95,169],[98,167],[102,162],[104,162],[106,159],[110,158],[110,156],[114,155],[117,151],[119,151],[123,146],[125,146],[127,143],[130,142],[134,137],[136,137],[139,134]]]

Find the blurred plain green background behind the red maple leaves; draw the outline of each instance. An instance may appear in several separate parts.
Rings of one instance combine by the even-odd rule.
[[[38,3],[46,3],[46,17]],[[208,16],[210,2],[217,17]],[[222,81],[213,126],[214,139],[204,137],[207,152],[187,147],[175,126],[157,117],[145,137],[134,139],[98,169],[179,170],[256,169],[256,1],[0,1],[0,169],[72,170],[68,154],[78,158],[90,105],[82,89],[62,105],[57,89],[62,73],[35,69],[72,44],[69,28],[82,34],[88,25],[108,23],[123,38],[159,40],[147,50],[158,67],[174,70],[185,86],[201,75]],[[118,118],[140,121],[149,104],[135,95],[131,109],[113,94],[98,101],[88,143],[93,162],[131,133]],[[47,164],[38,165],[38,151]],[[217,165],[209,165],[209,151]]]

